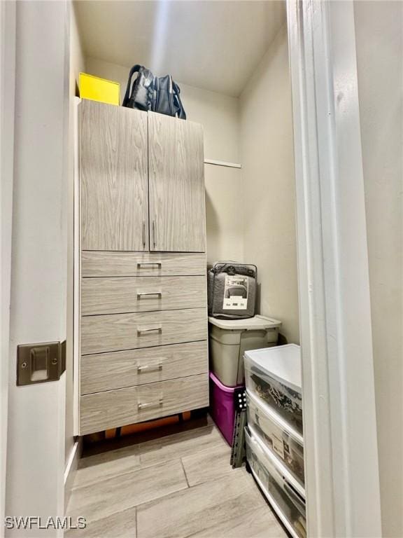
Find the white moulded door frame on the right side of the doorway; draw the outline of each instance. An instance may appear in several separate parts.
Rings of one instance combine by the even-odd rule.
[[[287,0],[310,537],[381,536],[353,1]]]

